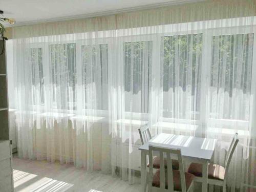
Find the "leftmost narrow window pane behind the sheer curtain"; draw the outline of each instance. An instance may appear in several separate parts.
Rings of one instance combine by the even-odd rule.
[[[33,101],[31,104],[44,104],[44,72],[42,69],[42,48],[26,50],[27,63],[31,68]]]

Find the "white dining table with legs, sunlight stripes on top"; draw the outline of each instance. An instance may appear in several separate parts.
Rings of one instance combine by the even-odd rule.
[[[214,153],[216,139],[172,135],[161,133],[139,147],[141,151],[141,191],[146,190],[146,156],[148,144],[156,146],[180,148],[184,161],[201,163],[203,165],[202,191],[207,191],[208,163]]]

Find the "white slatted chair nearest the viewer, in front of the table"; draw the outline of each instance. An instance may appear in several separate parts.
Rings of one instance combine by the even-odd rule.
[[[153,152],[157,152],[160,157],[160,169],[153,174]],[[178,149],[169,149],[150,145],[148,147],[150,168],[147,178],[148,191],[150,192],[174,192],[174,191],[193,191],[194,178],[193,174],[185,173],[181,156]],[[166,156],[167,169],[164,165],[164,156]],[[177,156],[179,170],[173,169],[172,157]]]

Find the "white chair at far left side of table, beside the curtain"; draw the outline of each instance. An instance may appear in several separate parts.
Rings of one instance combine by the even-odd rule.
[[[142,145],[152,139],[148,125],[141,127],[139,129],[139,134],[140,134],[140,140],[141,140]],[[165,167],[167,167],[166,159],[164,159],[164,162],[165,162]],[[172,164],[173,164],[173,169],[176,169],[176,170],[179,169],[179,162],[177,160],[173,159]],[[147,164],[147,167],[148,166],[149,166],[149,164]],[[159,156],[154,157],[153,167],[160,168],[160,157]]]

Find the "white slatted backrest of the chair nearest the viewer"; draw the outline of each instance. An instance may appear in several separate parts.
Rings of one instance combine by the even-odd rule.
[[[180,149],[170,149],[165,147],[157,147],[153,145],[148,146],[148,155],[150,160],[149,167],[149,176],[148,176],[148,188],[152,191],[152,182],[153,182],[153,154],[157,152],[160,156],[160,191],[165,189],[165,180],[168,178],[168,191],[174,191],[174,177],[173,177],[173,166],[172,166],[172,157],[177,156],[179,161],[179,170],[180,170],[180,181],[181,181],[181,191],[186,191],[186,182],[185,182],[185,172],[181,156]],[[165,178],[165,165],[164,157],[166,156],[167,162],[167,178]]]

